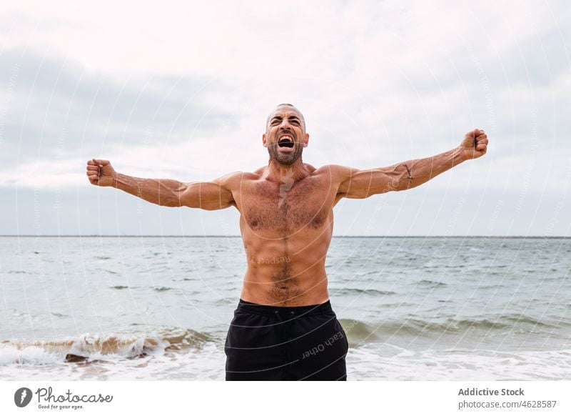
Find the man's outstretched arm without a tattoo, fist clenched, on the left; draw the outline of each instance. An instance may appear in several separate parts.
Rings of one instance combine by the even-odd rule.
[[[230,182],[236,174],[212,182],[183,183],[173,179],[143,179],[115,172],[108,160],[91,159],[86,174],[91,184],[114,187],[162,207],[223,209],[236,207]]]

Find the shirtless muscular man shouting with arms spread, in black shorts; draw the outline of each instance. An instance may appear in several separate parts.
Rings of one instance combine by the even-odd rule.
[[[333,207],[343,197],[404,191],[485,154],[483,130],[455,149],[390,167],[315,168],[302,161],[309,134],[301,112],[280,104],[269,115],[256,172],[212,182],[141,179],[115,172],[107,160],[87,162],[89,182],[116,187],[164,207],[240,212],[248,269],[226,337],[226,380],[347,380],[348,342],[330,306],[325,273]]]

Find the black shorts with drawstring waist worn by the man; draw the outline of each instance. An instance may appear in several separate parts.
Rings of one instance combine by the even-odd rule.
[[[347,380],[349,343],[330,301],[273,307],[240,299],[224,352],[226,380]]]

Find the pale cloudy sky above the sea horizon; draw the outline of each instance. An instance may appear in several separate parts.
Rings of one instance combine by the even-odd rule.
[[[0,234],[238,235],[238,212],[91,186],[85,163],[182,182],[267,164],[268,112],[305,162],[369,169],[485,129],[485,157],[335,207],[336,235],[571,236],[564,1],[94,1],[0,6]]]

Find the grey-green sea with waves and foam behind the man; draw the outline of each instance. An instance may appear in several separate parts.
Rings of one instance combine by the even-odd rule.
[[[348,380],[570,380],[571,239],[333,237]],[[0,237],[0,380],[224,380],[240,237]]]

